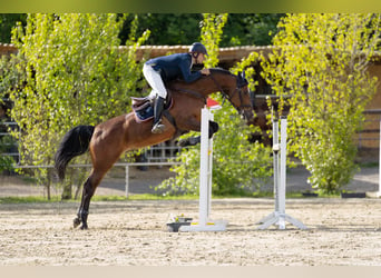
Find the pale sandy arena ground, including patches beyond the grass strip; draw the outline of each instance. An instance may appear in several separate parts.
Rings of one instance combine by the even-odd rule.
[[[97,193],[124,195],[118,175]],[[131,171],[130,192],[152,190],[160,175]],[[303,169],[287,177],[287,190],[309,189]],[[0,181],[1,196],[43,193],[14,177]],[[349,189],[377,190],[378,168],[363,169]],[[77,208],[78,201],[1,203],[0,266],[381,266],[378,198],[287,199],[286,214],[306,230],[256,229],[274,211],[272,198],[213,200],[211,217],[228,221],[223,232],[168,232],[170,214],[197,219],[197,200],[92,202],[86,231],[72,228]]]

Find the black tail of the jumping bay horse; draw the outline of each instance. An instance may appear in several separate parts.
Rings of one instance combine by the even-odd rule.
[[[65,178],[66,167],[70,160],[89,149],[94,129],[94,126],[78,126],[63,136],[55,156],[55,168],[60,180]]]

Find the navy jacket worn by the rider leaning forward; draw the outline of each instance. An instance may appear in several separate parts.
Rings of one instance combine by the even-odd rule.
[[[148,60],[146,64],[159,71],[164,82],[179,78],[190,83],[202,77],[199,71],[190,72],[192,56],[189,53],[157,57]]]

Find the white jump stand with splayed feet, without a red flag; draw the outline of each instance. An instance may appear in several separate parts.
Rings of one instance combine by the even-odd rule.
[[[306,227],[295,218],[285,214],[285,188],[286,188],[286,140],[287,140],[287,118],[281,117],[281,143],[279,141],[279,120],[273,120],[273,163],[274,163],[274,196],[275,210],[256,224],[261,224],[257,229],[264,230],[272,225],[277,225],[279,229],[285,229],[285,222],[290,222],[300,229]]]

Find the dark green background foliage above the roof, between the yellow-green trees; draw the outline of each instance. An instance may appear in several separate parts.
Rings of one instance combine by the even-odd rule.
[[[202,13],[138,13],[138,32],[145,29],[152,31],[147,44],[174,46],[190,44],[201,40],[199,24],[203,24]],[[268,46],[277,32],[276,24],[282,13],[229,13],[225,22],[224,33],[219,40],[221,47],[235,46]],[[120,32],[127,38],[134,16],[130,14]],[[124,40],[123,40],[124,41]]]

